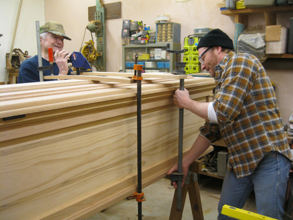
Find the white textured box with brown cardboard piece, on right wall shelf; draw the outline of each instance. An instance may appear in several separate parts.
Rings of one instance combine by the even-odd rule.
[[[287,53],[289,29],[281,25],[267,26],[266,54]]]

